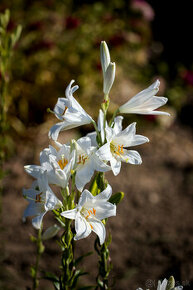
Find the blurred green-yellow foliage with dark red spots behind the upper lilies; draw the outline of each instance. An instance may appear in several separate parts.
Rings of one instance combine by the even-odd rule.
[[[167,63],[159,60],[162,46],[152,39],[154,11],[146,1],[2,0],[0,11],[6,8],[12,14],[9,31],[23,26],[12,62],[8,112],[18,133],[24,124],[45,120],[46,108],[64,96],[72,78],[80,86],[78,101],[96,117],[102,101],[101,40],[107,42],[117,65],[115,88],[122,79],[139,84],[139,89],[153,77],[167,80]],[[180,109],[186,100],[183,77],[179,74],[179,79],[163,84],[170,104]]]

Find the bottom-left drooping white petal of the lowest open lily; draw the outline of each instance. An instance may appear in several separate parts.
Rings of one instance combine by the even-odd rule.
[[[86,238],[91,233],[91,227],[89,223],[83,218],[80,213],[77,213],[75,219],[75,230],[76,236],[74,237],[75,240],[80,240]]]

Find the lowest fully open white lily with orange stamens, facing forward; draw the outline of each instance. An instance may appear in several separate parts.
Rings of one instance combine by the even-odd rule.
[[[75,220],[75,240],[86,238],[93,231],[98,235],[100,244],[104,243],[106,230],[101,220],[116,215],[116,205],[108,202],[111,194],[110,185],[96,196],[85,189],[76,208],[61,213],[63,217]]]

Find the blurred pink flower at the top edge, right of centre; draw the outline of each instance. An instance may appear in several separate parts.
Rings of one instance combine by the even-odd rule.
[[[154,16],[155,16],[154,10],[151,7],[151,5],[147,3],[145,0],[133,0],[131,2],[131,7],[134,10],[141,12],[143,17],[147,21],[152,21],[154,19]]]

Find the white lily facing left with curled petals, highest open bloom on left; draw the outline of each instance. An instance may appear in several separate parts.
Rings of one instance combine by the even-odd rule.
[[[73,83],[74,80],[66,88],[66,98],[58,98],[54,108],[53,112],[61,122],[55,124],[49,131],[49,137],[53,140],[58,139],[60,131],[90,124],[93,121],[73,97],[73,93],[78,89],[77,85],[71,87]]]

